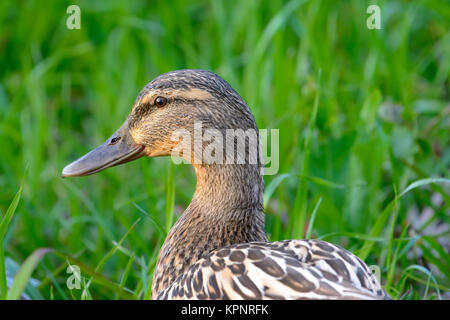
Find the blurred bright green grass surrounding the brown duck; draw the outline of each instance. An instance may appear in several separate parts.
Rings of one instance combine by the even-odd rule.
[[[193,170],[158,158],[60,172],[122,124],[148,81],[181,68],[218,73],[260,128],[280,130],[279,174],[265,177],[271,240],[322,238],[378,265],[395,298],[448,298],[448,3],[145,3],[77,1],[82,28],[68,30],[69,1],[0,2],[2,298],[150,297]],[[372,3],[381,30],[366,28]],[[419,224],[414,210],[431,213]],[[80,290],[66,286],[69,263]]]

